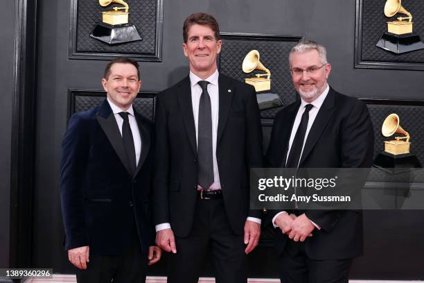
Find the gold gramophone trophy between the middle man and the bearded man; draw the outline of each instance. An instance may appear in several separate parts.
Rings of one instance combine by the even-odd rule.
[[[260,110],[282,106],[283,103],[278,94],[267,92],[271,90],[271,71],[259,61],[259,58],[260,55],[257,50],[251,50],[245,56],[242,62],[242,71],[247,74],[255,70],[265,71],[265,74],[255,74],[252,78],[245,78],[245,83],[255,87]]]

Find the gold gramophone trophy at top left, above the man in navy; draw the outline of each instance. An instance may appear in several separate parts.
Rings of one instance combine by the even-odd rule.
[[[133,24],[128,24],[130,7],[123,0],[99,0],[100,6],[106,7],[110,3],[118,3],[123,7],[114,7],[102,12],[102,24],[97,24],[91,32],[91,37],[109,45],[121,44],[142,40]]]

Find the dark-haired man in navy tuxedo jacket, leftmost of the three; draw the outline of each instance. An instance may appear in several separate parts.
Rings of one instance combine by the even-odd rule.
[[[153,126],[132,108],[138,63],[112,60],[102,85],[107,99],[74,114],[62,143],[65,248],[78,282],[145,282],[161,250],[150,221]]]

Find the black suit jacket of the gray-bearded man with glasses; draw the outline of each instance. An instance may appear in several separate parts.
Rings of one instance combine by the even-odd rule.
[[[277,114],[272,127],[267,162],[282,167],[288,155],[290,133],[300,99]],[[304,168],[366,168],[373,158],[374,135],[368,108],[356,98],[330,88],[306,139],[299,163]],[[313,237],[305,242],[312,259],[342,259],[362,254],[362,213],[353,210],[306,210],[317,223]],[[277,233],[277,248],[283,251],[288,237]]]

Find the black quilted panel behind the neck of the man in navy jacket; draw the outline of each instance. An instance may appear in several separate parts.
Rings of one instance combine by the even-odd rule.
[[[69,95],[68,119],[75,112],[87,111],[94,106],[100,105],[105,99],[105,92],[100,91],[75,91],[71,90]],[[134,109],[147,119],[154,119],[154,94],[140,93],[132,103]]]

